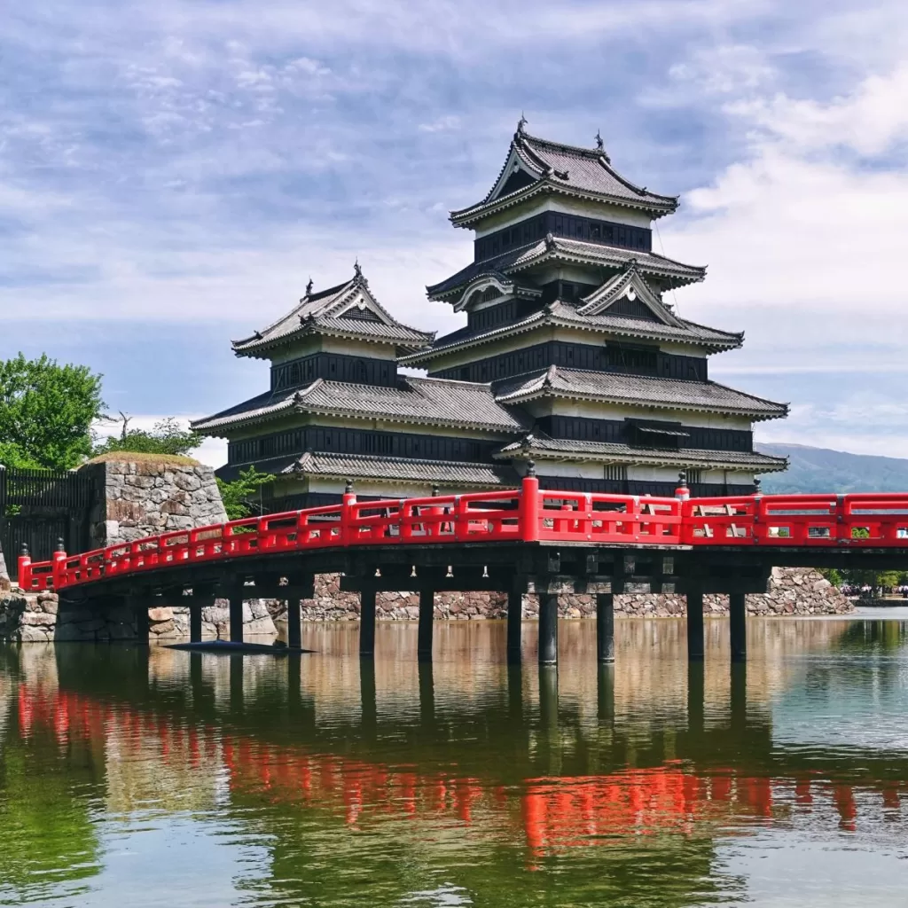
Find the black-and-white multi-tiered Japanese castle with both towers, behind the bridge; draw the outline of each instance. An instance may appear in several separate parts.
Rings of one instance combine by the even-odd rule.
[[[301,508],[508,488],[532,460],[545,489],[748,494],[785,459],[754,450],[753,424],[785,404],[709,380],[741,333],[679,318],[666,291],[706,269],[656,255],[652,222],[675,196],[628,182],[601,139],[549,142],[518,123],[489,194],[450,221],[473,261],[428,288],[462,312],[444,337],[397,321],[359,265],[252,337],[271,387],[193,428],[229,441],[232,479],[254,465]],[[424,369],[417,378],[399,367]]]

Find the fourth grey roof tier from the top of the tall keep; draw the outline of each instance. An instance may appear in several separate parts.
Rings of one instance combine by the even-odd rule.
[[[550,366],[543,372],[498,381],[492,387],[495,399],[505,404],[553,397],[637,404],[661,410],[727,413],[755,420],[779,419],[788,415],[787,404],[754,397],[716,381],[663,379],[624,372],[593,372]]]

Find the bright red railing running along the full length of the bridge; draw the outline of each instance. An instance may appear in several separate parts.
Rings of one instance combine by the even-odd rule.
[[[318,548],[499,541],[642,546],[908,548],[908,494],[643,498],[520,489],[357,501],[175,530],[50,561],[19,559],[25,589]]]

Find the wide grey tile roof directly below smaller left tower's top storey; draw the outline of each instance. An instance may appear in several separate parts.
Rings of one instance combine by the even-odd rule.
[[[223,437],[225,432],[294,413],[505,434],[527,428],[525,419],[495,400],[490,385],[401,376],[395,388],[318,379],[301,390],[260,394],[193,422],[192,429]]]

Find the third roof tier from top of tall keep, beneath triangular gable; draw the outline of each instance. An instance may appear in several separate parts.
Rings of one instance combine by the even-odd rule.
[[[480,330],[466,327],[452,331],[440,337],[431,347],[400,357],[399,362],[405,366],[419,366],[455,350],[467,350],[551,326],[639,341],[686,342],[706,350],[734,350],[744,342],[744,334],[740,332],[719,331],[717,328],[707,328],[705,325],[698,325],[696,321],[686,321],[676,316],[673,316],[673,319],[674,323],[666,324],[662,321],[644,321],[627,315],[612,315],[608,311],[601,315],[584,315],[570,303],[556,300],[544,309],[532,312],[526,318],[498,328]]]

